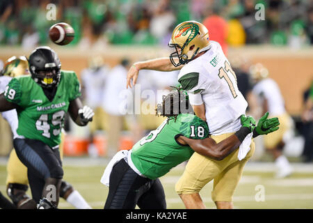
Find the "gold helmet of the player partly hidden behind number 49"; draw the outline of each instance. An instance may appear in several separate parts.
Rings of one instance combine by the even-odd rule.
[[[29,63],[25,56],[11,56],[5,63],[1,75],[19,77],[28,74]]]

